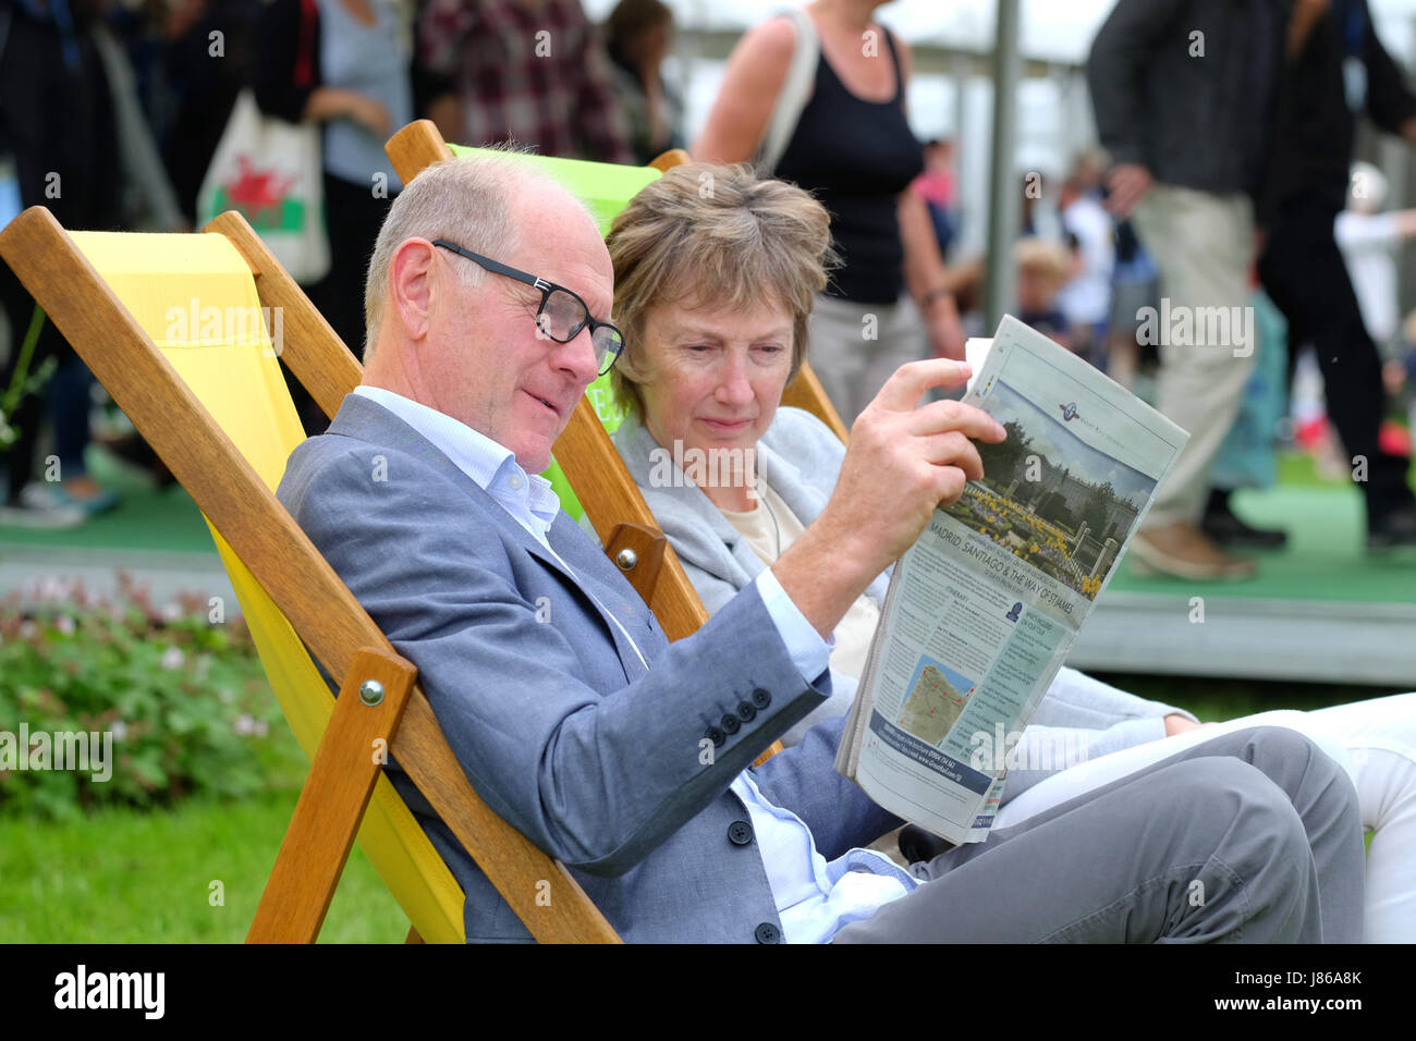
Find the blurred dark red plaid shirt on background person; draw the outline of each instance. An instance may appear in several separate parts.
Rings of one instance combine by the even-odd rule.
[[[429,0],[422,59],[462,98],[464,144],[633,163],[609,57],[579,0]]]

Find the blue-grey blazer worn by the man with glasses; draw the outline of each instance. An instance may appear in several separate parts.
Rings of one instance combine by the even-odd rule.
[[[418,666],[477,793],[565,861],[620,936],[780,939],[748,810],[728,786],[831,688],[828,673],[803,681],[755,586],[670,644],[571,520],[551,525],[547,552],[430,442],[358,395],[292,453],[278,496]],[[841,724],[752,770],[827,860],[901,823],[833,769]],[[406,775],[391,773],[463,887],[467,939],[530,939]]]

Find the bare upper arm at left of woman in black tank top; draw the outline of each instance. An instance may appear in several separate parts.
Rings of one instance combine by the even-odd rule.
[[[796,50],[796,30],[769,18],[749,30],[728,55],[718,98],[690,153],[700,163],[745,163],[767,132]]]

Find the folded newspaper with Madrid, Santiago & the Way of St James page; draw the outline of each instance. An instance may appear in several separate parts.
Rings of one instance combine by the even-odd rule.
[[[1189,438],[1011,316],[974,371],[964,402],[1008,436],[895,565],[835,756],[953,843],[988,837],[1010,766],[1085,761],[1018,742]]]

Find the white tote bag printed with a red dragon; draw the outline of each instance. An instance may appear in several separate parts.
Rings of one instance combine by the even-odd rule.
[[[319,127],[263,115],[248,88],[207,167],[197,222],[241,211],[290,276],[310,285],[330,269],[323,187]]]

